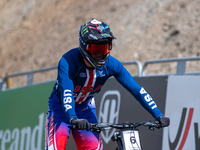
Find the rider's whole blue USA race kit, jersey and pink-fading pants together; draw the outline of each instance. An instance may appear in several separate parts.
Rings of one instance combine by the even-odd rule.
[[[101,135],[72,128],[70,119],[97,123],[94,96],[109,77],[115,77],[154,117],[163,116],[151,96],[114,57],[109,56],[101,70],[89,68],[79,48],[65,53],[58,64],[58,77],[49,98],[46,118],[46,150],[65,150],[70,131],[78,150],[103,150]]]

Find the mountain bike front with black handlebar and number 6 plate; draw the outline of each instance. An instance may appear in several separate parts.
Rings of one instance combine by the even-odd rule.
[[[150,130],[160,128],[158,121],[141,121],[136,123],[96,123],[91,124],[90,130],[92,132],[100,133],[102,131],[110,130],[112,128],[118,129],[111,137],[112,141],[117,142],[117,148],[115,150],[142,150],[140,141],[139,126],[147,126]]]

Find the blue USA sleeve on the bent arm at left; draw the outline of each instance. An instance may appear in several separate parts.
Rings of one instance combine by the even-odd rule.
[[[61,58],[58,64],[58,83],[61,94],[61,103],[67,119],[77,118],[73,97],[73,82],[69,74],[69,64],[65,58]]]

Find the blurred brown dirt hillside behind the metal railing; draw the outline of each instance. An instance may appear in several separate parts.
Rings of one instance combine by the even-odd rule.
[[[57,65],[91,18],[110,25],[120,61],[200,55],[199,0],[1,0],[0,78]]]

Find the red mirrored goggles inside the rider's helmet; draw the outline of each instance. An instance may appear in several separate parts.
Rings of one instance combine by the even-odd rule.
[[[87,44],[86,50],[94,55],[106,55],[112,49],[112,44]]]

